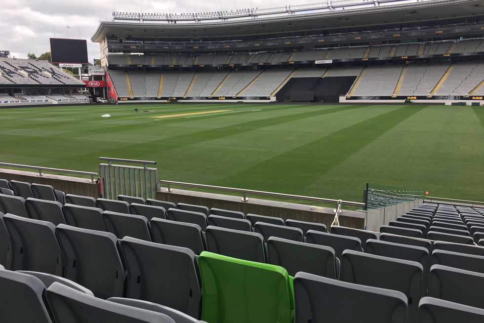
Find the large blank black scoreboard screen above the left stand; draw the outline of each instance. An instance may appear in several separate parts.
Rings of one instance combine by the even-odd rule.
[[[87,64],[87,42],[80,39],[50,39],[52,63]]]

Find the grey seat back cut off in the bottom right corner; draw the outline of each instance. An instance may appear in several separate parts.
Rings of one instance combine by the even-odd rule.
[[[424,297],[418,306],[419,323],[482,323],[484,309],[444,301],[434,297]]]

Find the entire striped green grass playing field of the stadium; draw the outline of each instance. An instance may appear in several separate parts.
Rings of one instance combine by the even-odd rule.
[[[106,113],[112,117],[101,118]],[[215,103],[0,109],[0,161],[98,171],[99,156],[158,161],[167,180],[351,201],[362,201],[365,183],[372,182],[482,201],[484,108]]]

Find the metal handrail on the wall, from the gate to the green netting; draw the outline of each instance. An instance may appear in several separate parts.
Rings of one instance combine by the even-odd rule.
[[[160,183],[166,184],[166,192],[173,191],[173,188],[171,187],[172,185],[186,186],[186,187],[198,187],[198,188],[203,188],[203,189],[211,189],[211,190],[226,191],[226,192],[237,192],[237,193],[242,194],[242,199],[241,199],[242,202],[247,202],[249,200],[247,195],[253,194],[253,195],[273,196],[273,197],[284,198],[284,199],[316,201],[316,202],[323,202],[323,203],[335,203],[337,209],[338,209],[338,205],[339,205],[339,209],[340,209],[339,213],[341,213],[341,205],[343,205],[343,204],[344,205],[352,205],[352,206],[364,206],[364,203],[361,203],[361,202],[324,199],[324,198],[316,198],[316,197],[312,197],[312,196],[292,195],[292,194],[266,192],[266,191],[246,190],[246,189],[240,189],[240,188],[234,188],[234,187],[214,186],[214,185],[196,184],[196,183],[185,183],[185,182],[176,182],[176,181],[167,181],[167,180],[160,180]]]

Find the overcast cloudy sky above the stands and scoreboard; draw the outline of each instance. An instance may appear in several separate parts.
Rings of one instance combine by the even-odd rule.
[[[314,0],[290,0],[287,4],[304,4]],[[89,62],[99,58],[99,45],[90,38],[99,20],[112,20],[112,12],[203,12],[249,7],[267,8],[286,3],[278,0],[0,0],[0,50],[10,57],[26,58],[27,53],[40,55],[49,51],[49,38],[87,40]],[[66,26],[70,26],[67,29]],[[69,35],[67,34],[69,33]]]

